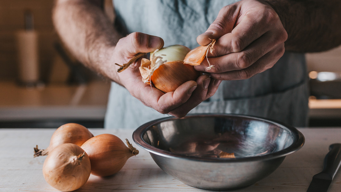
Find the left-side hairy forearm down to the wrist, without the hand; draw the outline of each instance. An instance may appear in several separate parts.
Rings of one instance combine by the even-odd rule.
[[[122,36],[100,6],[84,0],[57,0],[53,22],[65,46],[80,62],[119,82],[111,53]]]

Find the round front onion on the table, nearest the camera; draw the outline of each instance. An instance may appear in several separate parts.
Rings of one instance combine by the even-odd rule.
[[[50,186],[74,191],[89,179],[91,165],[86,152],[75,144],[61,144],[50,151],[43,165],[43,175]]]

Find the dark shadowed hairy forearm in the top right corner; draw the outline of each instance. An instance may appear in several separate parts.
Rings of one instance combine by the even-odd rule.
[[[341,1],[265,1],[275,9],[288,33],[286,50],[317,52],[341,44]]]

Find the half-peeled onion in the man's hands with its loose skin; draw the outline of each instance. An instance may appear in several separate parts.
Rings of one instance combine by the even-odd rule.
[[[212,53],[215,42],[216,40],[212,40],[210,44],[196,47],[193,50],[182,45],[171,45],[155,50],[150,53],[150,60],[143,58],[141,61],[139,70],[142,81],[153,84],[155,88],[167,93],[175,91],[181,84],[189,80],[196,80],[201,72],[196,71],[192,65],[199,65],[205,57],[207,58],[208,50]],[[117,71],[124,71],[131,63],[144,55],[143,53],[137,54],[127,64],[115,63],[121,67]],[[209,64],[207,69],[211,68],[214,68],[214,65]]]

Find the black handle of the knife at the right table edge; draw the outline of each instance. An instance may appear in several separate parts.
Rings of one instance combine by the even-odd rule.
[[[324,168],[322,173],[328,174],[331,179],[334,178],[341,166],[341,144],[334,143],[329,146],[329,152],[324,158]]]

